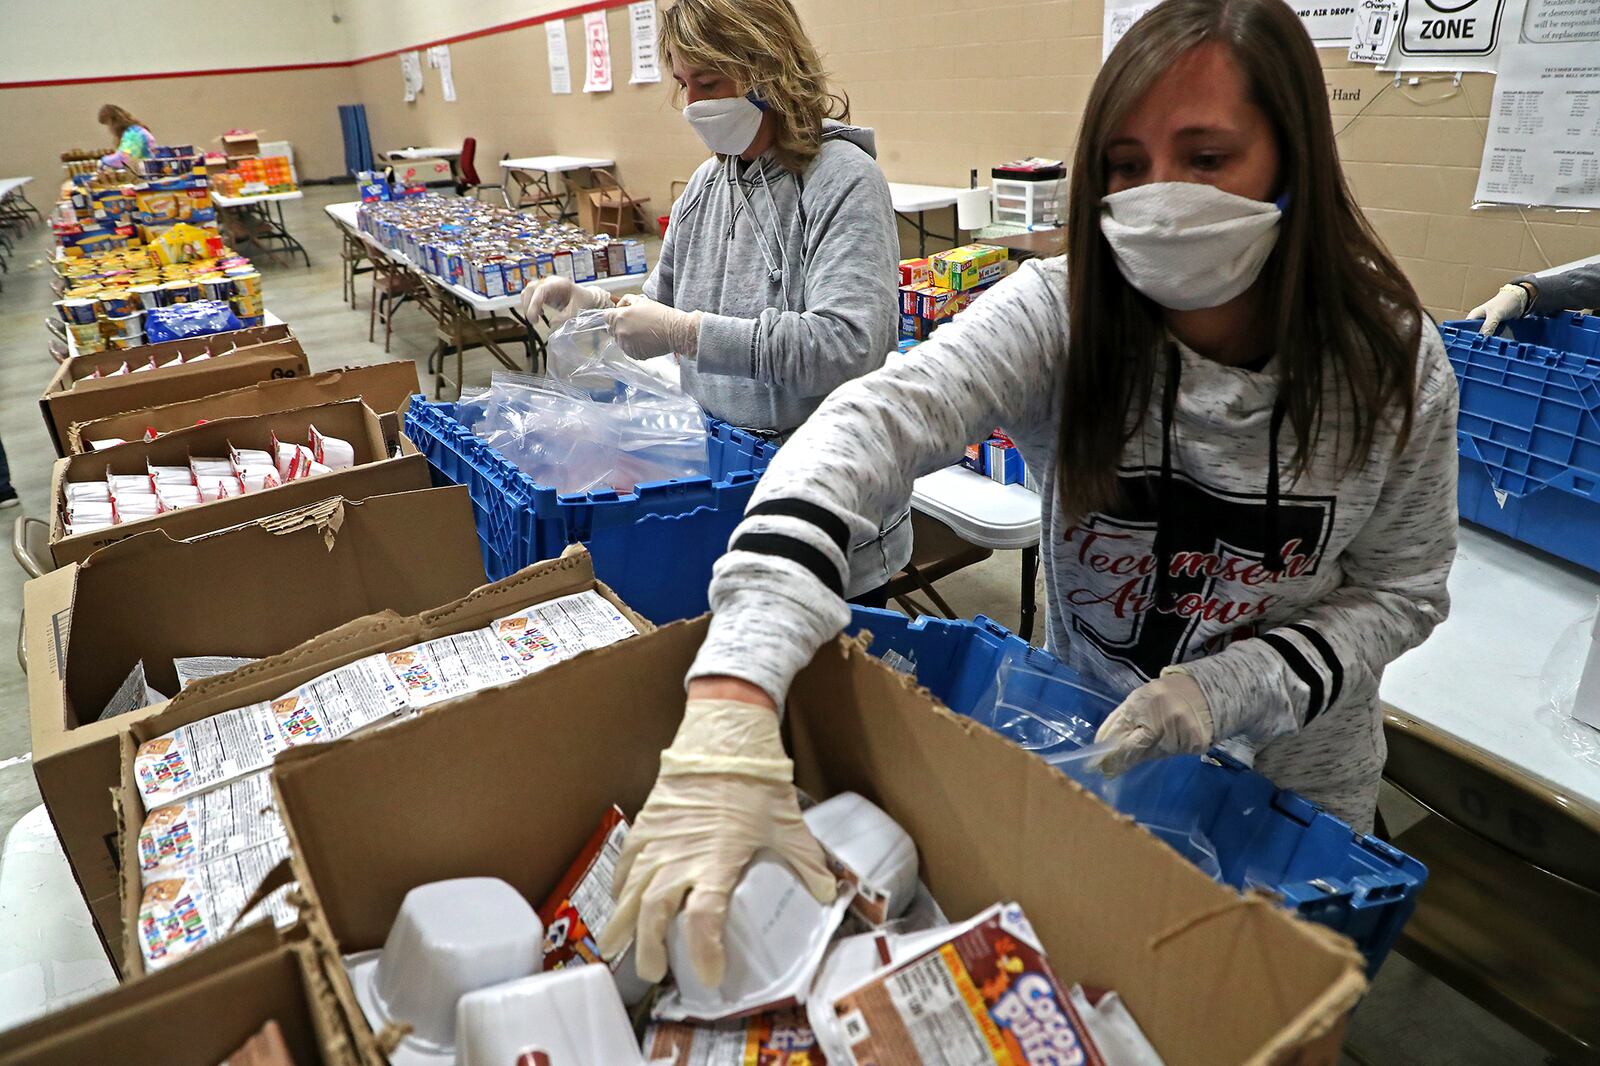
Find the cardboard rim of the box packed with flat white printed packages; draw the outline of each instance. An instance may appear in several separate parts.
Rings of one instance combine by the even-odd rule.
[[[280,655],[242,666],[230,674],[195,682],[168,704],[134,720],[118,738],[122,757],[120,776],[115,781],[114,795],[117,821],[122,823],[117,848],[118,866],[122,869],[120,925],[123,930],[123,973],[144,973],[144,956],[138,938],[139,900],[142,895],[138,836],[146,815],[144,802],[139,795],[139,783],[134,775],[134,751],[139,744],[170,733],[179,725],[189,725],[222,711],[282,696],[314,677],[320,677],[331,669],[366,658],[368,655],[395,651],[435,637],[477,629],[523,607],[590,589],[610,600],[640,632],[653,629],[648,619],[629,608],[627,603],[618,599],[616,592],[595,579],[589,552],[581,546],[574,546],[560,559],[534,563],[509,578],[474,589],[454,602],[438,607],[430,605],[427,610],[410,616],[402,616],[390,610],[358,618]],[[578,658],[587,658],[587,655],[590,653]],[[448,714],[456,706],[461,706],[464,699],[438,703],[427,707],[422,714],[427,717],[437,717],[440,711]]]

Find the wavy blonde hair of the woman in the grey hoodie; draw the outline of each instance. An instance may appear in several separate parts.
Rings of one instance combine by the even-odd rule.
[[[824,118],[850,120],[850,98],[829,88],[789,0],[678,0],[661,16],[661,54],[754,91],[776,118],[773,157],[789,171],[816,158]]]

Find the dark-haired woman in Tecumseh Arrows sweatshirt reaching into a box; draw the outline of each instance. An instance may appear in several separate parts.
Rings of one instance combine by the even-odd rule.
[[[637,925],[640,973],[685,900],[720,973],[722,906],[757,847],[829,893],[776,709],[850,618],[838,546],[989,426],[1053,487],[1050,647],[1126,695],[1102,765],[1229,744],[1371,826],[1378,682],[1448,607],[1456,381],[1344,184],[1293,10],[1166,0],[1136,22],[1094,83],[1070,195],[1066,258],[835,392],[757,487],[618,871],[606,946]]]

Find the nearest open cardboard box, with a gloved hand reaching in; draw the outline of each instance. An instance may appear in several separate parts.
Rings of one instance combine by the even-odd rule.
[[[363,1061],[381,1060],[339,956],[381,948],[421,884],[490,876],[542,900],[602,812],[642,805],[704,635],[704,619],[675,623],[448,715],[277,760],[304,920]],[[862,642],[818,653],[784,728],[800,787],[856,791],[888,812],[952,920],[1021,903],[1056,975],[1117,989],[1170,1066],[1338,1061],[1366,988],[1347,941],[1218,885]]]

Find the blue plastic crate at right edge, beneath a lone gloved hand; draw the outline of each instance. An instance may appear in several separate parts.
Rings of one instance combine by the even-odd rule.
[[[1461,517],[1600,570],[1600,317],[1440,327],[1461,384]]]

